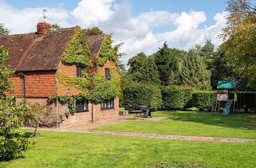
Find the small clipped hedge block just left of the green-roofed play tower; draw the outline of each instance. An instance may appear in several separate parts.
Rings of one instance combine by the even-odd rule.
[[[200,111],[211,109],[211,104],[209,104],[209,94],[208,91],[195,91],[192,96],[193,107],[197,107]]]

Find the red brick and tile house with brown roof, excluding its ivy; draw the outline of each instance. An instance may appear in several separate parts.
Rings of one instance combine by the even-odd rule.
[[[56,30],[46,29],[44,35],[35,36],[40,34],[37,25],[36,33],[10,35],[7,38],[0,37],[0,45],[11,48],[7,64],[15,70],[15,75],[11,77],[15,90],[7,95],[24,96],[31,103],[39,102],[47,105],[49,113],[44,115],[41,126],[65,127],[118,117],[118,96],[101,102],[77,100],[75,113],[71,113],[69,116],[65,115],[69,111],[67,104],[49,101],[49,97],[52,96],[75,96],[84,92],[76,85],[72,85],[72,80],[61,82],[59,77],[61,74],[73,80],[83,78],[84,68],[61,61],[62,55],[69,51],[67,49],[69,43],[75,48],[78,47],[75,46],[75,42],[72,43],[72,40],[75,40],[76,32],[81,32],[79,26]],[[86,36],[84,40],[84,45],[87,45],[90,50],[88,51],[90,55],[87,54],[84,57],[93,56],[100,59],[106,35]],[[78,62],[75,60],[78,55],[70,55],[74,62]],[[115,62],[111,59],[106,59],[98,67],[97,72],[104,76],[106,81],[119,74]],[[69,82],[70,85],[67,84]]]

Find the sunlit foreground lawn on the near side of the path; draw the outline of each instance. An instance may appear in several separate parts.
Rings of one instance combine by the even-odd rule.
[[[0,162],[0,167],[149,167],[172,161],[209,167],[256,166],[255,142],[177,141],[50,131],[39,131],[37,141],[24,157]]]

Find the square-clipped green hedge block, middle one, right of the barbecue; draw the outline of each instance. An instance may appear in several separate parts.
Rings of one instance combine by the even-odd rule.
[[[167,86],[161,88],[162,109],[177,110],[192,107],[193,89],[181,86]]]

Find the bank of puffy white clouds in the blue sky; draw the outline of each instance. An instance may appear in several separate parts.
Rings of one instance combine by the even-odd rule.
[[[226,21],[224,12],[217,13],[214,25],[199,29],[199,25],[207,19],[203,11],[177,14],[151,10],[132,16],[132,2],[129,0],[123,0],[121,4],[115,4],[115,0],[81,0],[73,11],[63,9],[63,4],[46,9],[51,24],[57,23],[61,27],[80,25],[82,28],[98,26],[105,33],[113,33],[115,43],[124,42],[121,49],[127,53],[123,58],[124,63],[138,52],[156,52],[164,41],[169,47],[179,49],[203,45],[207,39],[218,46],[218,35]],[[0,15],[6,16],[0,18],[0,23],[4,23],[12,34],[34,32],[37,22],[42,21],[42,8],[17,10],[0,3]],[[172,31],[154,34],[153,28],[161,26],[169,26]]]

